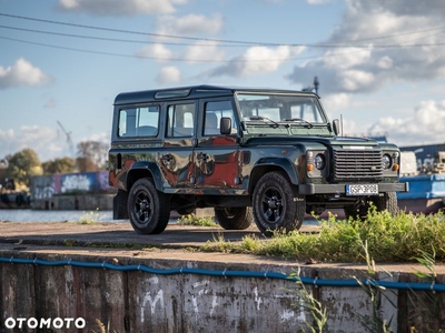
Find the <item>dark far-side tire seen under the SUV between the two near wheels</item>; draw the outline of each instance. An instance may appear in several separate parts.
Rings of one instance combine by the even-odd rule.
[[[225,230],[245,230],[254,220],[250,206],[215,208],[215,216]]]

